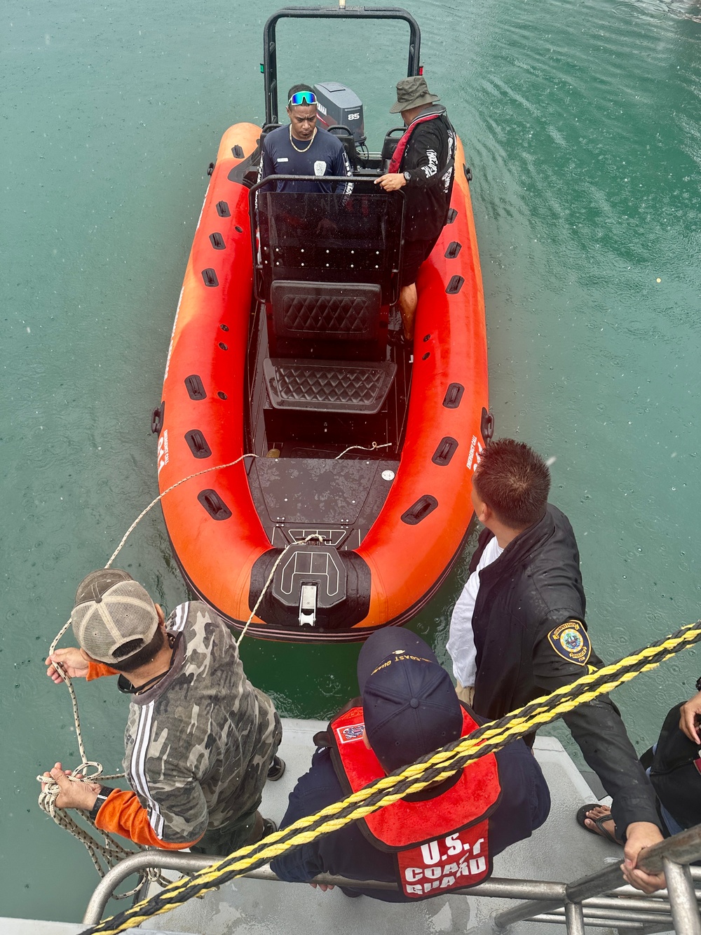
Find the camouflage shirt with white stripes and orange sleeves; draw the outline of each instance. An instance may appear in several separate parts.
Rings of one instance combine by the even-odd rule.
[[[171,668],[129,705],[131,789],[111,792],[96,824],[179,850],[255,811],[280,727],[270,698],[246,678],[236,640],[207,605],[180,604],[166,626],[180,634]],[[116,673],[92,663],[86,674],[93,681]]]

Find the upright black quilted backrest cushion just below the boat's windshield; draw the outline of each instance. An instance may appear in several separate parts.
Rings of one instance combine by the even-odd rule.
[[[374,340],[381,290],[377,283],[273,282],[273,327],[279,338]]]

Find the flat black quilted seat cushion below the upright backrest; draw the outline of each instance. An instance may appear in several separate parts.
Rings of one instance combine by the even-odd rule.
[[[268,357],[263,372],[274,409],[375,415],[387,397],[396,364]]]

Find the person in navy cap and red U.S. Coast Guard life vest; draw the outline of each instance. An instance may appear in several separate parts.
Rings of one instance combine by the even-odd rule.
[[[369,637],[358,658],[358,683],[362,698],[315,737],[311,769],[293,789],[280,827],[477,727],[436,655],[408,630],[387,627]],[[344,887],[348,896],[391,902],[443,896],[484,881],[494,855],[528,838],[549,811],[536,759],[515,741],[438,785],[276,857],[271,868],[296,883],[314,885],[327,872],[398,885]]]

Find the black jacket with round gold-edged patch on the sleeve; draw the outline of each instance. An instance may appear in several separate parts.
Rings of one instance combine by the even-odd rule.
[[[474,570],[493,533],[484,529],[472,557]],[[579,572],[577,540],[565,513],[548,505],[545,516],[509,542],[492,565],[479,572],[479,593],[472,617],[477,649],[473,707],[490,720],[548,695],[602,665],[591,650],[587,658],[553,638],[558,627],[578,620],[575,637],[591,647],[586,633],[586,603]],[[562,627],[561,627],[562,628]],[[565,714],[563,720],[589,766],[613,798],[619,830],[633,821],[660,824],[651,784],[628,740],[618,708],[603,696]]]

